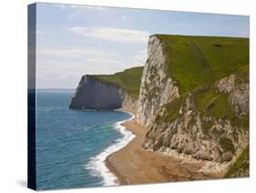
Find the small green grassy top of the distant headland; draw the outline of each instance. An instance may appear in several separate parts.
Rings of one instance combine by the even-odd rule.
[[[130,96],[138,97],[142,71],[143,66],[138,66],[113,75],[95,75],[93,77],[96,77],[103,82],[122,87]]]

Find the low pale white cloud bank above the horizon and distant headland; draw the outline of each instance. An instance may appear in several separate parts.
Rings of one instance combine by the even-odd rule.
[[[36,53],[36,86],[75,88],[85,74],[113,74],[132,66],[143,66],[147,51],[138,50],[132,56],[115,56],[110,51],[49,48],[39,46]]]

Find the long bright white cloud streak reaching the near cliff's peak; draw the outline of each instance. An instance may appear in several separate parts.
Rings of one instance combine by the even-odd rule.
[[[146,44],[149,36],[147,31],[110,27],[74,26],[69,29],[78,35],[91,36],[107,41],[115,41],[125,44]]]

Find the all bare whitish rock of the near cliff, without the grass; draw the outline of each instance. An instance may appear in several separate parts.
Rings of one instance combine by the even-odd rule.
[[[203,116],[191,94],[180,99],[179,87],[167,74],[163,46],[157,36],[149,37],[148,60],[141,77],[136,117],[139,124],[149,128],[143,147],[159,152],[175,149],[210,161],[230,161],[237,157],[248,145],[248,130],[231,123],[234,120]],[[228,95],[227,103],[237,117],[246,117],[249,114],[249,83],[237,84],[236,79],[236,75],[221,78],[214,87]],[[163,121],[167,113],[165,105],[177,98],[182,100],[179,116]]]

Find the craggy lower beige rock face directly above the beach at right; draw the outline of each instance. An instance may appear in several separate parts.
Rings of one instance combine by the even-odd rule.
[[[228,95],[236,119],[206,117],[197,109],[193,95],[189,95],[179,108],[179,117],[170,122],[161,121],[165,107],[159,109],[147,133],[143,147],[159,152],[175,149],[197,159],[230,161],[248,146],[249,130],[240,126],[239,117],[249,114],[249,83],[236,84],[236,75],[221,78],[215,83],[220,93]]]

